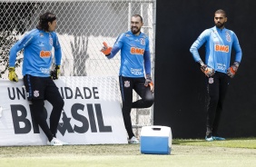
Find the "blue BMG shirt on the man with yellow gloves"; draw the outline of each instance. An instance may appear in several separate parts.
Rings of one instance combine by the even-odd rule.
[[[57,34],[33,29],[13,45],[10,50],[9,66],[15,66],[16,54],[24,49],[24,62],[22,74],[32,76],[50,76],[52,65],[52,49],[54,47],[55,64],[61,64],[62,52]]]

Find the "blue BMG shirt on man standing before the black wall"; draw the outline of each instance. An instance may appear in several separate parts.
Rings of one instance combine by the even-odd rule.
[[[234,32],[216,26],[204,30],[191,46],[191,53],[195,62],[201,60],[199,48],[205,44],[205,64],[217,72],[226,74],[231,62],[231,48],[235,51],[235,61],[241,63],[241,47]]]

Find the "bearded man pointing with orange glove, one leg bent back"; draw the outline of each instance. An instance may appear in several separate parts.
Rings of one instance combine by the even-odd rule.
[[[102,49],[108,59],[113,58],[121,50],[119,83],[123,99],[123,121],[129,136],[129,143],[139,143],[133,133],[131,109],[148,108],[153,105],[149,39],[141,32],[142,26],[142,16],[133,15],[131,31],[121,34],[113,48],[103,43]],[[133,102],[133,90],[141,96],[141,100]]]

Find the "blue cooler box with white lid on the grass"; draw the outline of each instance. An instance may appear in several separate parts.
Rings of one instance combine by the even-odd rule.
[[[171,154],[172,130],[167,126],[144,126],[141,131],[141,152]]]

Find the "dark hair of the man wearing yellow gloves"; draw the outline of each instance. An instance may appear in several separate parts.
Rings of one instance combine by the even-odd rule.
[[[36,25],[36,28],[39,30],[48,31],[49,30],[48,22],[53,23],[54,20],[56,20],[56,16],[51,12],[46,12],[43,15],[40,15],[39,23],[38,25]]]

